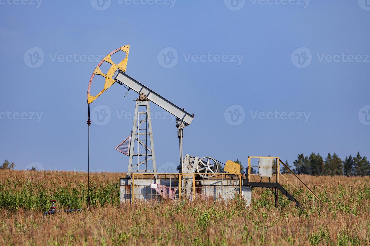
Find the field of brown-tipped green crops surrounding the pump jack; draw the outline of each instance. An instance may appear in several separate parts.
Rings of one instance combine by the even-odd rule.
[[[124,173],[92,174],[95,209],[43,219],[57,208],[84,207],[85,173],[1,171],[0,245],[369,245],[370,178],[300,176],[323,201],[304,211],[255,188],[243,201],[198,200],[120,205]]]

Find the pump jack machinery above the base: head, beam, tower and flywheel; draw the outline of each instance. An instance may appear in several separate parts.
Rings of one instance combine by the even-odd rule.
[[[217,171],[217,162],[212,157],[191,157],[186,155],[183,157],[182,138],[184,136],[184,128],[191,124],[194,119],[194,114],[190,114],[185,111],[185,108],[180,108],[174,103],[171,103],[155,91],[149,89],[144,84],[138,82],[134,78],[128,76],[126,72],[127,60],[129,53],[129,45],[122,46],[114,51],[110,52],[101,62],[97,65],[94,72],[91,75],[88,90],[87,90],[87,103],[90,104],[98,98],[105,90],[107,90],[112,84],[117,82],[118,84],[125,86],[129,90],[133,90],[138,93],[138,98],[135,100],[135,116],[134,124],[132,127],[131,135],[126,138],[123,142],[116,147],[121,153],[129,156],[127,177],[130,177],[132,173],[157,173],[157,164],[155,161],[155,150],[154,150],[154,139],[153,129],[150,117],[150,106],[149,102],[157,104],[170,114],[176,117],[176,128],[177,137],[179,139],[179,157],[180,163],[178,166],[179,173],[184,170],[184,161],[186,163],[199,163],[201,166],[195,168],[193,171],[198,170],[199,173],[204,173],[204,176],[210,176],[212,173]],[[114,63],[111,56],[116,52],[125,52],[125,58],[118,64]],[[107,73],[103,73],[100,66],[107,62],[110,64],[110,69]],[[90,94],[91,83],[94,80],[95,75],[103,76],[105,78],[104,88],[96,96]],[[128,92],[127,91],[127,92]],[[127,94],[127,93],[126,93]],[[89,110],[90,112],[90,110]],[[90,115],[90,113],[89,113]],[[88,119],[88,125],[90,125],[90,118]],[[149,141],[148,141],[149,140]],[[150,142],[150,143],[148,143]],[[136,144],[135,144],[136,143]],[[150,146],[149,146],[150,144]],[[137,146],[135,153],[134,146]],[[137,157],[137,161],[134,161],[134,157]],[[152,162],[152,169],[148,168],[148,161]],[[198,167],[196,165],[194,167]],[[211,174],[208,174],[211,173]]]

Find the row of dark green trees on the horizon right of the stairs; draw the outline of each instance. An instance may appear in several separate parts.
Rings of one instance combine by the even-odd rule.
[[[291,166],[285,163],[289,169]],[[352,157],[346,156],[346,159],[342,160],[340,157],[333,153],[327,154],[327,157],[323,158],[320,153],[311,153],[310,156],[304,156],[303,153],[297,156],[297,159],[293,162],[294,169],[297,174],[309,174],[315,176],[367,176],[370,175],[370,162],[365,156],[361,156],[359,152],[357,155]],[[280,171],[285,172],[282,168]]]

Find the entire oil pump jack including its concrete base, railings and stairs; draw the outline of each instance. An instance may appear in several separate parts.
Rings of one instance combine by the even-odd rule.
[[[293,197],[283,185],[279,184],[279,177],[286,177],[279,173],[280,164],[288,170],[290,180],[296,179],[298,183],[308,190],[313,197],[320,199],[314,194],[292,171],[279,159],[279,157],[263,157],[250,156],[248,157],[248,169],[245,176],[242,176],[242,168],[239,163],[228,160],[225,164],[224,171],[226,173],[217,173],[218,162],[216,159],[205,156],[202,158],[183,156],[182,138],[184,136],[184,128],[190,125],[194,119],[194,114],[185,111],[185,108],[180,108],[174,103],[166,100],[164,97],[149,89],[144,84],[138,82],[134,78],[126,74],[127,60],[129,53],[129,45],[122,46],[105,56],[100,63],[95,67],[94,72],[90,77],[90,82],[87,90],[88,104],[88,132],[89,132],[89,158],[88,158],[88,208],[90,207],[90,104],[97,99],[105,90],[116,83],[124,86],[128,91],[133,90],[138,93],[138,98],[135,100],[135,115],[134,124],[131,135],[120,143],[115,149],[129,156],[127,177],[120,180],[121,202],[135,200],[149,200],[171,198],[172,200],[180,200],[185,195],[189,199],[201,197],[203,199],[212,197],[214,199],[234,199],[237,195],[245,198],[248,205],[252,191],[251,187],[275,188],[275,205],[278,202],[278,190],[286,195],[291,201],[299,202]],[[114,63],[111,56],[117,52],[124,52],[125,58]],[[110,68],[107,73],[103,73],[100,69],[101,65],[107,62]],[[90,94],[91,83],[95,76],[104,77],[104,88],[95,96]],[[128,93],[127,91],[127,93]],[[127,94],[126,93],[126,94]],[[151,124],[151,114],[149,103],[152,102],[163,108],[170,114],[176,117],[177,137],[179,138],[179,166],[178,174],[158,174],[157,165],[155,162],[153,129]],[[136,152],[135,152],[136,146]],[[134,161],[134,157],[136,160]],[[251,160],[258,158],[258,174],[251,173]],[[148,167],[148,162],[152,162],[152,169]],[[223,164],[223,163],[222,163]],[[141,174],[152,174],[149,177]],[[258,182],[253,181],[253,177],[258,178]],[[293,177],[293,178],[292,178]],[[268,182],[262,181],[265,179]],[[287,180],[288,182],[289,180]],[[289,181],[290,182],[290,181]],[[290,184],[289,186],[290,187]],[[294,186],[293,186],[294,187]],[[295,187],[297,189],[297,187]]]

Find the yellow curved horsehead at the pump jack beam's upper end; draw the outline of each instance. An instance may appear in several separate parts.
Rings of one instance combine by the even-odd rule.
[[[89,87],[88,87],[88,91],[87,91],[87,104],[90,104],[92,103],[96,98],[98,98],[104,91],[106,91],[109,87],[112,86],[112,84],[114,84],[115,80],[112,79],[114,73],[117,71],[117,69],[120,69],[122,72],[126,72],[126,68],[127,68],[127,60],[128,60],[128,51],[130,49],[130,45],[125,45],[125,46],[122,46],[120,47],[119,49],[116,49],[114,51],[112,51],[111,53],[109,53],[107,56],[105,56],[101,62],[98,64],[98,66],[95,68],[94,72],[92,73],[92,76],[90,78],[90,83],[89,83]],[[126,53],[126,56],[125,58],[118,64],[114,63],[112,61],[112,58],[111,58],[111,55],[113,55],[114,53],[118,52],[118,51],[123,51]],[[100,66],[102,65],[103,62],[108,62],[111,64],[111,67],[110,69],[108,70],[108,72],[106,74],[104,74],[101,69],[100,69]],[[91,87],[91,83],[92,83],[92,80],[94,78],[95,75],[99,75],[99,76],[103,76],[105,77],[105,82],[104,82],[104,88],[95,96],[92,96],[90,94],[90,87]]]

